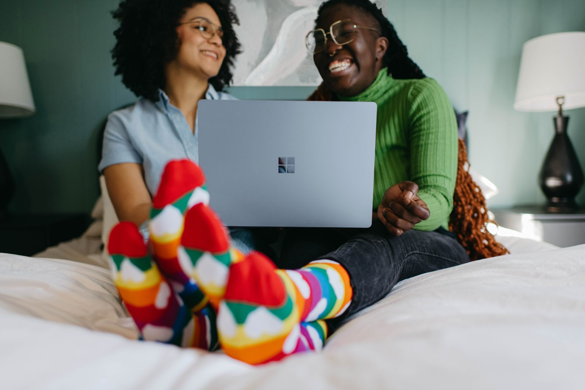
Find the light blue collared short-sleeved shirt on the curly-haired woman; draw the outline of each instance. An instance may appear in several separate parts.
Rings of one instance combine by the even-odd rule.
[[[167,94],[159,90],[160,99],[152,102],[140,98],[134,105],[114,111],[108,116],[104,132],[104,149],[98,170],[121,163],[142,164],[144,181],[150,195],[159,187],[164,166],[170,160],[189,158],[197,163],[198,132],[195,133],[183,113],[172,105]],[[205,99],[236,99],[225,92],[217,92],[209,84]]]

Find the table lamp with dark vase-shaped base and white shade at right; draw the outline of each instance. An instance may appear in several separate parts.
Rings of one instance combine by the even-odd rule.
[[[583,170],[567,136],[563,109],[585,107],[585,32],[548,34],[524,43],[514,108],[557,111],[555,137],[539,177],[548,210],[577,209],[574,197],[583,185]]]

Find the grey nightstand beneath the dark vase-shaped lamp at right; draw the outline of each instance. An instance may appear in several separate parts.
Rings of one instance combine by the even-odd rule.
[[[500,226],[560,247],[585,244],[585,209],[553,213],[541,206],[490,210]]]

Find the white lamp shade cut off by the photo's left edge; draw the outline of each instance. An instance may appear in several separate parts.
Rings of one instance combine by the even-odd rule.
[[[35,113],[22,49],[0,42],[0,118],[22,118]]]

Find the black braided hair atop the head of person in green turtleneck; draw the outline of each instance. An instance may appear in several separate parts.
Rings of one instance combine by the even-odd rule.
[[[382,58],[382,64],[384,67],[388,67],[388,74],[391,74],[394,78],[408,79],[408,78],[425,78],[425,74],[422,73],[421,68],[408,57],[408,51],[404,43],[398,38],[398,34],[394,29],[390,20],[384,16],[382,10],[376,6],[370,0],[328,0],[319,6],[317,11],[317,18],[315,23],[318,23],[322,12],[331,8],[334,5],[345,4],[352,5],[357,8],[366,11],[371,16],[376,18],[381,27],[381,36],[388,39],[388,49],[386,54]]]

